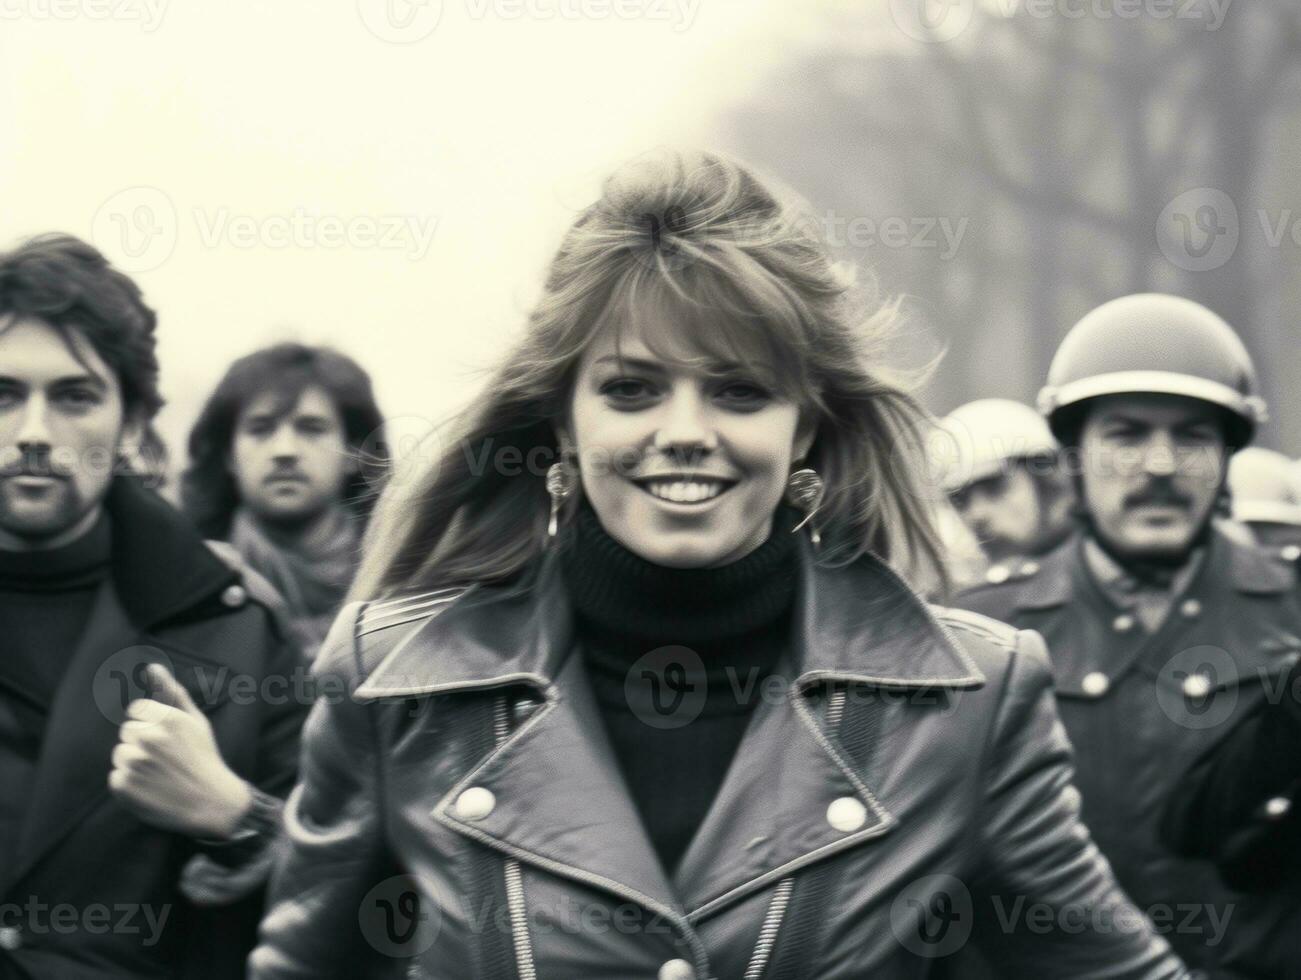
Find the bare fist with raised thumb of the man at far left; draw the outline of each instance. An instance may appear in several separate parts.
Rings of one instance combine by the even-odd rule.
[[[190,692],[159,664],[150,664],[146,674],[151,696],[127,705],[109,789],[154,826],[229,837],[252,803],[252,790],[221,759],[212,725]]]

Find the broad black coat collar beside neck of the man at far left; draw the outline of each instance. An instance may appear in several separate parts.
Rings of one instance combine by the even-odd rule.
[[[155,626],[238,580],[190,522],[137,478],[117,476],[104,505],[113,526],[113,586],[137,626]]]

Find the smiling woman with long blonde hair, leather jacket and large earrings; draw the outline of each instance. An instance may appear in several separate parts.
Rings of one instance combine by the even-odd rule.
[[[710,154],[575,221],[380,501],[255,977],[922,977],[969,940],[1180,975],[1080,824],[1042,642],[891,570],[939,557],[925,418],[812,228]]]

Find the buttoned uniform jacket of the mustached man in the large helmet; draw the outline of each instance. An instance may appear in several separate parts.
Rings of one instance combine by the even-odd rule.
[[[1159,834],[1193,760],[1278,692],[1301,649],[1296,570],[1215,531],[1149,635],[1099,590],[1082,545],[1076,536],[958,604],[1047,642],[1084,820],[1189,966],[1216,977],[1301,976],[1301,906],[1227,889],[1210,862],[1177,856]]]

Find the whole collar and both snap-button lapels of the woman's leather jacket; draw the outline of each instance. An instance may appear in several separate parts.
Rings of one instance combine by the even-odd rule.
[[[794,686],[755,709],[671,876],[637,832],[640,819],[601,735],[582,659],[570,656],[571,621],[554,556],[541,562],[530,588],[463,593],[398,644],[355,696],[539,688],[541,705],[441,796],[433,817],[516,859],[639,902],[690,941],[700,919],[896,824],[870,789],[873,777],[826,734],[801,696],[804,687],[835,679],[965,688],[985,679],[882,562],[824,569],[803,545],[799,561]],[[479,820],[464,819],[457,807],[471,786],[488,789],[497,802]],[[856,830],[840,832],[825,815],[847,798],[859,800],[866,816]]]

